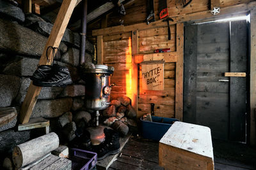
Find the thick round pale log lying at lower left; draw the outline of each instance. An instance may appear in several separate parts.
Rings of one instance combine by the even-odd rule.
[[[26,166],[40,157],[44,157],[59,146],[58,135],[54,132],[40,136],[26,143],[15,146],[12,159],[15,167]]]

